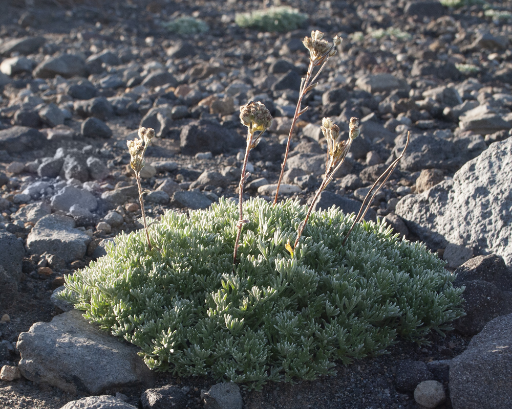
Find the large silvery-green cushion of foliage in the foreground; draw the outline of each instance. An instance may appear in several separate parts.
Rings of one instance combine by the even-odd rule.
[[[463,314],[461,289],[424,246],[382,223],[332,208],[313,212],[293,258],[306,207],[244,203],[233,271],[236,204],[190,216],[168,211],[144,233],[121,234],[108,254],[68,276],[62,299],[139,346],[148,367],[261,388],[269,380],[332,374],[335,361],[385,353],[397,336],[425,342]]]

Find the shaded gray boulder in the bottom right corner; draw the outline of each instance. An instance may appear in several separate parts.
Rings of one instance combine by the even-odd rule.
[[[450,363],[454,409],[509,409],[512,402],[512,314],[489,322]]]

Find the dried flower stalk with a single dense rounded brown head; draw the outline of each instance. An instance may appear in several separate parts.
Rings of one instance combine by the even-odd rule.
[[[247,146],[245,148],[240,184],[238,185],[240,194],[238,200],[240,218],[237,223],[237,239],[234,242],[233,264],[236,264],[237,261],[238,243],[240,241],[240,235],[242,234],[242,227],[245,223],[249,222],[249,220],[244,219],[242,210],[244,184],[250,176],[250,173],[245,172],[247,161],[249,160],[249,152],[260,143],[261,135],[272,124],[272,116],[266,106],[261,102],[250,101],[248,104],[240,107],[240,121],[247,127]]]

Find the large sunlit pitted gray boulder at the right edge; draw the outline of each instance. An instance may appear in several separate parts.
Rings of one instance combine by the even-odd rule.
[[[467,162],[452,180],[403,197],[395,213],[431,248],[447,243],[512,264],[512,138]]]

